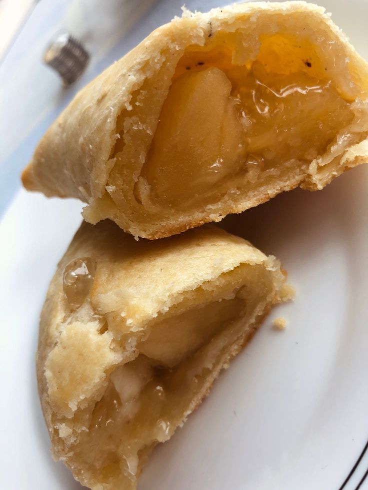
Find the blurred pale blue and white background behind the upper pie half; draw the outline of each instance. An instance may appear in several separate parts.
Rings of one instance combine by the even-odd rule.
[[[364,56],[366,2],[321,0]],[[0,218],[19,189],[37,141],[74,94],[158,25],[180,15],[184,0],[0,0]],[[206,11],[226,0],[188,0]],[[345,8],[346,7],[346,8]],[[69,87],[42,57],[66,29],[90,54]]]

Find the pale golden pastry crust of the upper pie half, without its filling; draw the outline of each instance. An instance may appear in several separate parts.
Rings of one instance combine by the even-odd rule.
[[[244,51],[256,52],[259,37],[269,32],[271,24],[273,31],[279,28],[295,36],[310,36],[311,42],[317,31],[327,41],[333,41],[331,59],[335,58],[339,67],[334,67],[332,59],[328,75],[347,95],[351,86],[355,87],[353,98],[360,93],[361,100],[355,103],[356,111],[360,111],[356,116],[359,124],[352,124],[336,135],[333,161],[329,148],[309,168],[290,172],[283,181],[275,178],[263,188],[257,188],[253,195],[229,189],[210,210],[170,208],[156,212],[144,208],[133,194],[134,183],[184,49],[193,44],[206,45],[218,33],[242,29],[248,39]],[[83,216],[91,223],[109,218],[135,236],[148,239],[169,236],[208,221],[219,221],[226,214],[256,206],[298,185],[308,190],[320,189],[348,168],[365,162],[368,159],[368,102],[364,102],[367,93],[367,64],[321,7],[299,1],[259,2],[203,14],[186,12],[182,18],[152,32],[76,95],[41,139],[32,161],[23,171],[23,185],[47,196],[85,201],[88,206]],[[120,130],[126,152],[122,164],[113,154]],[[139,144],[135,141],[137,134]],[[119,165],[122,168],[116,171],[118,178],[110,181],[111,172]],[[122,188],[123,198],[117,199],[115,185]]]

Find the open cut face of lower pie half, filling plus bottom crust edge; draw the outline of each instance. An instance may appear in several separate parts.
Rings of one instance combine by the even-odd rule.
[[[116,488],[134,489],[153,446],[169,439],[208,391],[228,346],[253,331],[251,319],[264,311],[270,282],[260,267],[244,267],[246,284],[236,275],[236,286],[224,286],[219,300],[184,311],[179,304],[177,313],[172,307],[152,320],[149,335],[136,344],[137,357],[109,375],[71,448],[97,483],[110,479]]]

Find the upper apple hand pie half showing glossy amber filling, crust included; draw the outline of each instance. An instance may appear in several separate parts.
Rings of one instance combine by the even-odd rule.
[[[367,97],[368,65],[321,7],[184,11],[76,95],[23,184],[169,236],[367,161]]]

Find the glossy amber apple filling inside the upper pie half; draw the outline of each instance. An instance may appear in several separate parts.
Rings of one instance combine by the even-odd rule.
[[[241,40],[239,32],[218,33],[205,47],[186,48],[177,63],[134,187],[147,209],[208,205],[229,182],[246,194],[272,178],[306,172],[353,120],[354,97],[328,78],[322,61],[328,43],[263,35],[255,59],[244,63]],[[116,165],[111,183],[121,180],[118,173]]]

